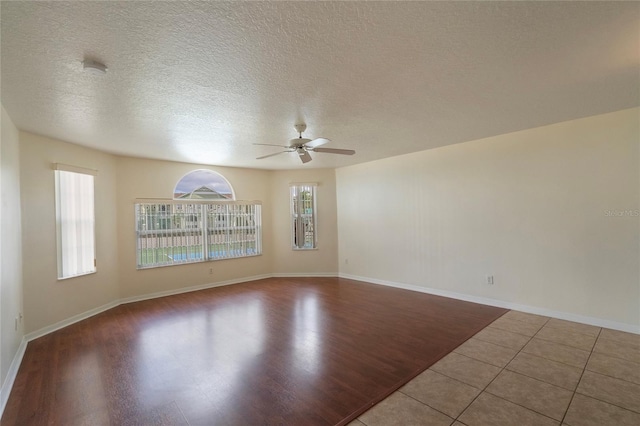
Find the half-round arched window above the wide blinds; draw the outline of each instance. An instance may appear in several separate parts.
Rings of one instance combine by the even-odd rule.
[[[199,169],[187,173],[173,189],[174,200],[235,200],[231,184],[220,173]]]

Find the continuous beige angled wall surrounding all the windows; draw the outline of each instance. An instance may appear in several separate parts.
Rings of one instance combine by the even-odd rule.
[[[50,138],[21,133],[26,332],[33,332],[120,299],[180,291],[244,278],[337,273],[333,170],[272,172],[119,157]],[[97,169],[98,273],[58,281],[52,163]],[[195,169],[225,176],[240,200],[262,201],[263,255],[146,270],[136,269],[134,203],[170,199],[178,180]],[[320,249],[292,254],[289,182],[320,183]],[[274,202],[277,204],[274,206]],[[282,231],[282,232],[281,232]],[[296,261],[291,262],[293,256]],[[212,270],[212,271],[211,271]],[[211,271],[211,272],[210,272]]]

